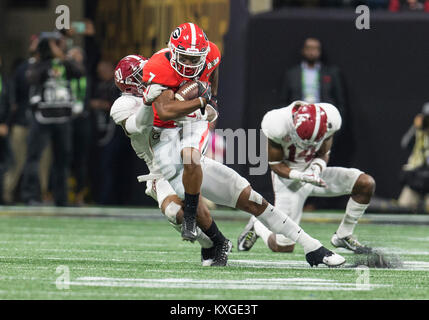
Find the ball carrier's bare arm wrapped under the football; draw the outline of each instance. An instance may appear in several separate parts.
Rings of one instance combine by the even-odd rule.
[[[164,90],[162,94],[154,101],[154,108],[162,121],[174,120],[204,108],[207,101],[203,97],[188,101],[179,101],[174,99],[172,90]]]

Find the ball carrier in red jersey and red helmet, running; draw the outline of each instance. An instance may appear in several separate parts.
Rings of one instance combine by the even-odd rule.
[[[153,102],[154,126],[159,131],[173,129],[177,123],[172,121],[188,115],[210,103],[212,93],[217,94],[220,52],[217,46],[208,41],[205,33],[194,23],[184,23],[177,27],[170,36],[168,48],[155,53],[143,69],[143,81],[147,85],[145,103]],[[185,81],[198,80],[198,98],[189,101],[175,100],[174,92]],[[205,85],[209,83],[209,85]],[[160,88],[162,94],[158,94]],[[192,121],[183,124],[180,155],[184,165],[182,182],[184,192],[184,221],[182,237],[194,240],[196,236],[196,210],[199,203],[203,172],[200,158],[209,141],[209,124],[207,121]],[[164,134],[167,136],[168,133]],[[157,146],[154,153],[162,149]],[[156,155],[155,155],[155,158]],[[158,157],[161,171],[168,167],[168,157]],[[168,163],[169,164],[169,163]],[[173,173],[163,172],[168,179]],[[214,242],[225,243],[226,239],[218,231],[216,225],[207,233]]]

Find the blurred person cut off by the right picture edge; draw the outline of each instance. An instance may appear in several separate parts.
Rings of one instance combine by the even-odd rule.
[[[412,210],[429,212],[429,102],[414,118],[414,123],[404,135],[401,147],[406,149],[414,138],[414,147],[402,171],[403,185],[398,204]]]

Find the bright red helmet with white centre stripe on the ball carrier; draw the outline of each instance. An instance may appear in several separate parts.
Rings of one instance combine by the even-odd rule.
[[[194,78],[200,73],[210,50],[204,31],[191,22],[174,29],[168,47],[171,52],[171,66],[186,78]]]

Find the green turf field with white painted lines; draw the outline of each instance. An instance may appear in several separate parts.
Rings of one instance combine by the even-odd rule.
[[[198,244],[150,212],[125,219],[0,215],[0,299],[429,298],[428,225],[356,228],[360,240],[399,255],[396,269],[356,269],[356,255],[345,250],[336,250],[347,258],[344,267],[310,268],[301,247],[272,253],[261,239],[249,252],[234,248],[228,267],[211,268],[201,267]],[[218,215],[217,222],[236,247],[246,220]],[[337,225],[302,223],[329,249]]]

